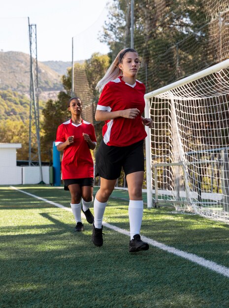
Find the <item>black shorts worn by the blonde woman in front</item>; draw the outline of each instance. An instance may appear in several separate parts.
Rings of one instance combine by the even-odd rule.
[[[145,171],[143,140],[127,147],[107,146],[102,140],[96,154],[96,176],[106,180],[120,177],[121,170],[127,176],[137,171]]]

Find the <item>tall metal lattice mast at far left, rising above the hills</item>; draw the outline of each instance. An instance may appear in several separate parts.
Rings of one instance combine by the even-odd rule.
[[[40,128],[39,128],[39,93],[38,93],[38,65],[36,45],[36,25],[29,23],[30,36],[30,131],[29,131],[29,166],[36,165],[38,161],[40,170],[40,182],[44,184],[40,154]],[[35,132],[34,132],[35,129]]]

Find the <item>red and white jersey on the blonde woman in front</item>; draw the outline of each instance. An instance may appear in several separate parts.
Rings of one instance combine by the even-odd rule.
[[[97,109],[118,111],[129,108],[140,110],[135,119],[116,118],[105,121],[102,128],[103,141],[108,146],[124,147],[144,139],[147,134],[141,121],[145,108],[145,86],[136,80],[134,85],[125,83],[122,77],[108,82],[99,97]]]

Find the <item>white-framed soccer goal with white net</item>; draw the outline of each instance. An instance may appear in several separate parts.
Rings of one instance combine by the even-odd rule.
[[[229,222],[229,60],[145,94],[148,207]]]

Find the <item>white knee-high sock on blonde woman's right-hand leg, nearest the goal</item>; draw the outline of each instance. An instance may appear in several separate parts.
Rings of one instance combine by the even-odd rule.
[[[143,200],[130,200],[129,220],[131,239],[135,234],[140,234],[141,222],[143,216]]]

